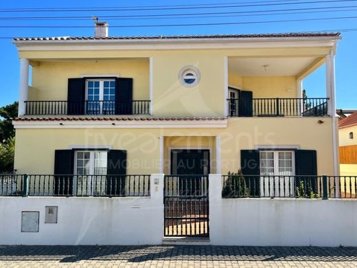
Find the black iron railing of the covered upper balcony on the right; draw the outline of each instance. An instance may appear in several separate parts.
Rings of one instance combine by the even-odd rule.
[[[228,99],[229,116],[325,116],[328,98]]]

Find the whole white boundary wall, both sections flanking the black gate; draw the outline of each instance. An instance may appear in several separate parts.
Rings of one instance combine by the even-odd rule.
[[[155,184],[158,182],[159,184]],[[158,245],[163,175],[151,197],[0,197],[0,245]],[[209,175],[211,245],[357,246],[357,200],[222,199]],[[58,223],[45,223],[45,206]],[[21,232],[21,212],[39,211],[39,232]]]

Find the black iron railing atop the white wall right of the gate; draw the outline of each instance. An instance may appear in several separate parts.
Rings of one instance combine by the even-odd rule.
[[[223,198],[357,198],[357,177],[223,175]]]

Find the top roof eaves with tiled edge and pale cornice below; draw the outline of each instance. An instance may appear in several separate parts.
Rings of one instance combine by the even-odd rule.
[[[246,47],[334,47],[341,39],[335,34],[275,34],[232,36],[164,37],[47,37],[14,38],[19,51],[86,49],[229,49]]]

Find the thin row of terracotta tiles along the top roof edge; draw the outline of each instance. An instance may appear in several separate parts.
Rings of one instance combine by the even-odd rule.
[[[109,36],[109,37],[18,37],[16,41],[90,41],[90,40],[154,40],[154,39],[200,39],[200,38],[284,38],[284,37],[336,37],[339,32],[300,32],[282,34],[214,34],[214,35],[181,35],[181,36]]]

